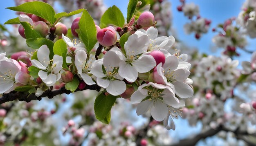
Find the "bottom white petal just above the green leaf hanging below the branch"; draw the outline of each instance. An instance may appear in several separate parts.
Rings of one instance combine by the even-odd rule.
[[[109,86],[107,87],[107,92],[111,95],[117,96],[126,91],[126,84],[124,81],[114,80],[109,83]]]

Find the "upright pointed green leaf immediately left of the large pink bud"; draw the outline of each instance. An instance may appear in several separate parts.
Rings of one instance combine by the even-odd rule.
[[[83,11],[78,25],[80,29],[80,31],[78,31],[79,38],[81,38],[88,53],[90,53],[97,42],[97,30],[95,23],[87,10]]]

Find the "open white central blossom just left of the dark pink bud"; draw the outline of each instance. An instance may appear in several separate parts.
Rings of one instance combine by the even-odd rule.
[[[136,31],[124,44],[125,54],[115,46],[110,50],[119,56],[119,75],[128,82],[134,82],[138,73],[146,73],[155,67],[156,62],[153,56],[141,55],[147,51],[148,43],[148,36],[141,31]]]

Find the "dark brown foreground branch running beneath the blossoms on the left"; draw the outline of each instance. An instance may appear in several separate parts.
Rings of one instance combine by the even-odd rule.
[[[91,86],[88,86],[88,85],[85,86],[83,90],[86,90],[86,89],[99,91],[101,87],[98,86],[97,84],[94,84]],[[76,89],[76,91],[83,91],[83,90],[80,90],[79,88]],[[62,87],[54,91],[52,91],[51,89],[48,89],[39,97],[36,97],[35,93],[32,93],[31,95],[29,95],[29,93],[11,91],[10,93],[2,95],[2,97],[0,98],[0,104],[3,104],[5,102],[11,102],[16,99],[18,99],[19,101],[25,101],[25,102],[30,102],[31,100],[42,100],[43,97],[53,98],[54,96],[61,95],[63,93],[70,94],[71,91],[65,89],[65,87]]]

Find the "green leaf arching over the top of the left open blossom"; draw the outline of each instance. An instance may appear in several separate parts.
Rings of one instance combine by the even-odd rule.
[[[50,50],[49,58],[50,59],[53,58],[53,55],[54,55],[54,52],[53,52],[54,43],[51,40],[46,39],[46,38],[29,38],[29,39],[26,40],[26,42],[27,42],[27,45],[30,48],[32,48],[32,49],[39,49],[40,46],[43,46],[44,44],[46,44],[48,49]],[[33,56],[34,55],[36,55],[36,54],[33,54]],[[32,56],[32,58],[33,58],[33,56]],[[37,60],[37,56],[34,56],[33,59]]]

